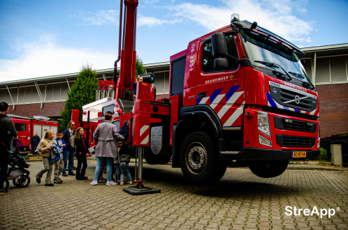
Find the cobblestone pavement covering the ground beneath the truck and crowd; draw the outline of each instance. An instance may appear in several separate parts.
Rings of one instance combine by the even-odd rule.
[[[145,185],[161,193],[131,196],[122,192],[128,185],[89,185],[95,166],[88,161],[86,182],[68,176],[45,187],[35,181],[42,162],[31,162],[30,186],[11,181],[10,192],[0,196],[0,229],[348,229],[345,171],[287,170],[266,179],[227,169],[219,183],[197,186],[180,169],[145,164]],[[288,216],[287,206],[340,210],[331,218]]]

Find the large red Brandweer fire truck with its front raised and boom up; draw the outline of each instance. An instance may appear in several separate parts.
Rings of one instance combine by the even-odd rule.
[[[289,160],[317,158],[318,93],[296,45],[233,14],[229,26],[171,56],[168,99],[155,100],[154,77],[144,75],[133,102],[124,95],[135,80],[138,1],[124,4],[115,98],[85,106],[84,122],[102,120],[106,111],[114,113],[117,128],[131,121],[129,141],[138,146],[139,159],[145,155],[149,164],[166,164],[173,158],[172,166],[196,183],[219,181],[226,167],[249,167],[263,178],[279,176]],[[141,187],[140,169],[138,181]]]

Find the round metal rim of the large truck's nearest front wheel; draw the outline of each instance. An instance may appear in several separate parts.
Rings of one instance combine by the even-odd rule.
[[[207,151],[203,144],[194,142],[187,147],[185,155],[186,166],[192,174],[201,174],[207,166]]]

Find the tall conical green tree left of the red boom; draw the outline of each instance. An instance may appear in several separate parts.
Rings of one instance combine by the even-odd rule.
[[[61,111],[61,122],[59,129],[65,130],[71,121],[71,110],[80,109],[79,121],[82,121],[82,106],[96,100],[96,88],[99,80],[96,79],[96,70],[92,70],[92,65],[87,63],[80,68],[76,81],[68,92],[68,100],[65,102],[64,110]]]

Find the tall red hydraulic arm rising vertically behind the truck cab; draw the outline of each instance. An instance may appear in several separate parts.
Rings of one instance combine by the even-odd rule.
[[[138,0],[124,0],[123,42],[119,89],[115,98],[131,100],[131,91],[136,75],[136,16]]]

